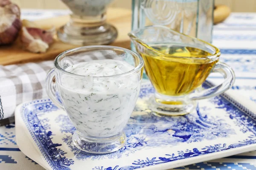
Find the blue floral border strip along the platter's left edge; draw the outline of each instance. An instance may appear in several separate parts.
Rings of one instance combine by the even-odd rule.
[[[47,163],[52,169],[69,169],[71,164],[74,164],[72,159],[67,159],[64,155],[66,154],[60,148],[61,144],[53,143],[51,127],[48,124],[49,119],[38,119],[42,114],[50,113],[51,111],[58,110],[53,105],[50,99],[35,100],[30,103],[25,103],[22,108],[24,113],[23,121],[26,123],[26,127],[29,133],[32,135],[36,145],[41,151],[42,155],[46,159]]]

